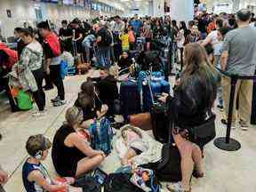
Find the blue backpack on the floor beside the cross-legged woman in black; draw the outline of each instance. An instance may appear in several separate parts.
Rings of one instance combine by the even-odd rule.
[[[112,140],[114,137],[114,132],[108,118],[103,117],[100,120],[100,130],[95,120],[89,131],[92,135],[92,148],[102,150],[108,156],[113,149]]]

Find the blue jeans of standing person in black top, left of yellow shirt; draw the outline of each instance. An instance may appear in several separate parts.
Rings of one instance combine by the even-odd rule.
[[[111,66],[111,47],[99,47],[97,52],[96,67],[110,68]]]

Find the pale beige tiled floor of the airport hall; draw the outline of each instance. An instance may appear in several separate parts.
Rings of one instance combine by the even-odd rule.
[[[91,71],[91,76],[97,76],[97,72]],[[0,100],[0,132],[4,139],[0,141],[0,164],[9,172],[11,178],[5,185],[7,192],[24,191],[21,180],[21,165],[28,156],[25,151],[25,142],[29,135],[44,133],[52,139],[54,132],[60,127],[64,120],[66,108],[72,106],[76,100],[79,86],[85,76],[72,76],[65,80],[68,104],[53,108],[47,104],[47,116],[33,118],[31,111],[11,114],[8,108]],[[47,92],[47,99],[52,99],[56,90]],[[2,102],[2,103],[1,103]],[[217,133],[225,135],[226,128],[220,124],[220,113],[218,112]],[[239,140],[242,148],[236,152],[225,152],[212,143],[206,146],[204,152],[205,177],[201,180],[193,180],[193,191],[195,192],[255,192],[256,191],[256,127],[248,132],[235,130],[231,132],[232,137]],[[115,162],[115,164],[113,164]],[[55,175],[52,168],[51,157],[45,162],[52,177]],[[103,164],[106,172],[113,172],[119,165],[115,154],[109,156]]]

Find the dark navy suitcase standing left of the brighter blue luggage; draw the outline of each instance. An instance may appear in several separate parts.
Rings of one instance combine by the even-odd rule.
[[[135,80],[124,81],[120,86],[121,112],[124,119],[141,112],[140,92]]]

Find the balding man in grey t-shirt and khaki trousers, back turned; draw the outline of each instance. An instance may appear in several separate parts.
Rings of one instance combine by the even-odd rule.
[[[238,28],[228,32],[224,39],[221,54],[221,69],[229,74],[246,76],[254,75],[256,67],[256,29],[250,28],[251,12],[242,9],[236,13]],[[222,78],[224,111],[228,116],[229,94],[231,89],[230,78]],[[236,128],[236,120],[241,129],[246,131],[250,125],[252,108],[252,80],[239,80],[236,84],[235,100],[239,94],[239,109],[234,105],[232,128]],[[236,116],[238,112],[238,116]],[[238,118],[238,119],[237,119]],[[237,121],[237,122],[238,122]],[[222,119],[227,123],[227,119]]]

